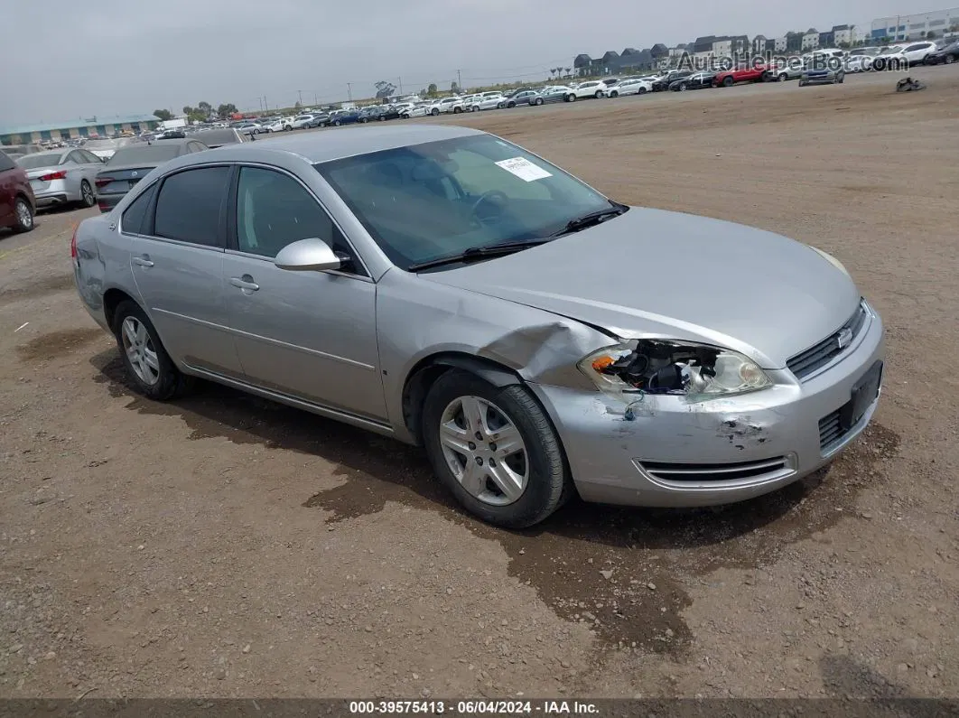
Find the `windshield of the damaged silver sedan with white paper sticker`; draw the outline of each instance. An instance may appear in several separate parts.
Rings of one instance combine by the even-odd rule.
[[[469,247],[545,239],[570,220],[614,207],[490,135],[346,157],[316,170],[403,269]]]

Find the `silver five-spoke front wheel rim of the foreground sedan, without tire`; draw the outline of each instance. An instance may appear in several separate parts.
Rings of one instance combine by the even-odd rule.
[[[455,399],[440,418],[443,458],[470,496],[491,506],[519,500],[529,481],[526,443],[502,408],[477,396]]]

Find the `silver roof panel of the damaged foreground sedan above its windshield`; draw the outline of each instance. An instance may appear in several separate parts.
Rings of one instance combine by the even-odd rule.
[[[242,161],[253,159],[264,150],[288,151],[312,163],[328,162],[341,157],[395,150],[425,142],[448,140],[484,134],[479,129],[455,125],[405,125],[397,127],[342,127],[321,132],[304,132],[292,137],[227,145],[215,150],[224,159]]]

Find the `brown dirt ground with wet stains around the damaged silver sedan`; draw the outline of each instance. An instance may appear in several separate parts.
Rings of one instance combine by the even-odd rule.
[[[915,74],[441,120],[818,245],[882,313],[864,438],[714,511],[510,533],[389,440],[213,385],[153,404],[73,291],[84,213],[0,235],[0,695],[959,695],[959,67]]]

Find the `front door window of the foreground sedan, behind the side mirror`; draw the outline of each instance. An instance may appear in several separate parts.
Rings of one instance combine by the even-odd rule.
[[[274,258],[287,244],[319,239],[346,251],[337,225],[289,174],[243,167],[237,185],[237,246]]]

